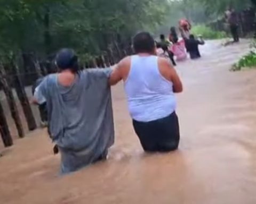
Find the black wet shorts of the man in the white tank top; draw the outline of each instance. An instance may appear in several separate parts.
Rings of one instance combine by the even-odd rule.
[[[175,112],[150,122],[133,120],[133,127],[146,152],[167,152],[178,149],[180,131],[178,116]]]

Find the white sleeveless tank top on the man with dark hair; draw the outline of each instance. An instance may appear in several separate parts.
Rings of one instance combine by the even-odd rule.
[[[159,72],[157,56],[132,56],[124,88],[135,121],[154,121],[175,111],[173,84]]]

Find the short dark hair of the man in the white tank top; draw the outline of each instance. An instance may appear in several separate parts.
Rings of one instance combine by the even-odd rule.
[[[138,53],[152,53],[155,48],[155,40],[149,32],[139,32],[133,38],[133,49]]]

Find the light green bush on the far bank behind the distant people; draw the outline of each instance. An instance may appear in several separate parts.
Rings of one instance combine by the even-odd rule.
[[[215,31],[206,25],[195,25],[192,27],[191,33],[196,36],[201,35],[205,39],[221,39],[227,37],[226,32]]]

